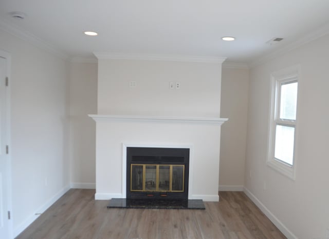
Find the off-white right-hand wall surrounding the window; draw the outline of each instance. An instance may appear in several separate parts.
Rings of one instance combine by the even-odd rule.
[[[266,165],[266,152],[270,73],[297,64],[301,77],[293,181]],[[323,238],[329,229],[328,69],[326,35],[250,71],[245,187],[277,217],[289,238]]]

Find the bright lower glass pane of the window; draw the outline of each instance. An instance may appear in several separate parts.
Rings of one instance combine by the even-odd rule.
[[[274,157],[293,165],[295,127],[277,125]]]

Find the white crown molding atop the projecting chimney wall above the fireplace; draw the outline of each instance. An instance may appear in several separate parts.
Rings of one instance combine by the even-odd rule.
[[[199,56],[199,55],[164,55],[164,54],[126,54],[94,52],[98,59],[133,59],[144,61],[169,61],[169,62],[203,62],[222,64],[226,57]]]

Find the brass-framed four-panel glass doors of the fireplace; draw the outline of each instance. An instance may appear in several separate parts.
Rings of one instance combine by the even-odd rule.
[[[132,192],[184,192],[184,165],[131,164]]]

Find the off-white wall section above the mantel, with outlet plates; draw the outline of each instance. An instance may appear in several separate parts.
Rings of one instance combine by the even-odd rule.
[[[221,63],[99,59],[98,70],[98,114],[220,116]]]

